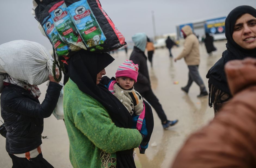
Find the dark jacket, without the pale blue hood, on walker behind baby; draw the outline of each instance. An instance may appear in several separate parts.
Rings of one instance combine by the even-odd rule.
[[[143,51],[134,46],[134,49],[131,53],[130,60],[134,64],[139,66],[139,74],[137,77],[137,82],[134,84],[134,89],[141,93],[151,89],[149,71],[147,69],[147,57]]]

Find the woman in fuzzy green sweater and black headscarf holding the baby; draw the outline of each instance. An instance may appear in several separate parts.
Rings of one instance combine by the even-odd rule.
[[[64,117],[73,167],[135,167],[133,149],[142,136],[131,129],[124,105],[99,83],[113,60],[107,53],[81,50],[68,62]]]

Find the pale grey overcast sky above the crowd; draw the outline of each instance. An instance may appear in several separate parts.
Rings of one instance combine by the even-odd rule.
[[[102,8],[126,41],[137,32],[153,37],[152,11],[156,34],[176,32],[176,26],[193,21],[227,16],[239,5],[256,8],[256,0],[101,0]],[[41,43],[51,49],[50,41],[38,29],[31,15],[32,0],[1,0],[0,44],[24,39]]]

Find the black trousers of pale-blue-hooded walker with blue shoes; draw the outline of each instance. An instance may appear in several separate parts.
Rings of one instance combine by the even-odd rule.
[[[158,98],[153,93],[152,89],[145,91],[145,92],[139,92],[142,97],[144,97],[150,105],[155,109],[158,117],[162,122],[165,122],[167,120],[167,117],[164,113],[164,110],[162,108],[162,105],[159,103]]]

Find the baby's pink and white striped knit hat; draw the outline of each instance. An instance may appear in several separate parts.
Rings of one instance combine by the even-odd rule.
[[[126,60],[118,67],[116,77],[129,77],[137,82],[138,70],[138,64],[135,65],[131,60]]]

